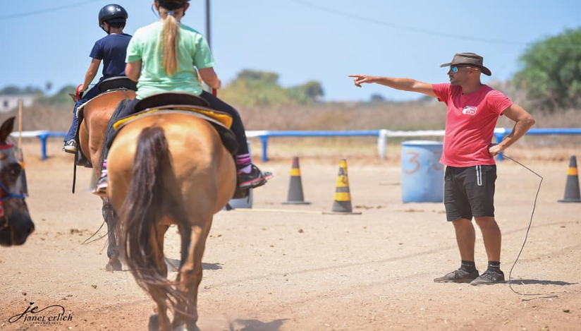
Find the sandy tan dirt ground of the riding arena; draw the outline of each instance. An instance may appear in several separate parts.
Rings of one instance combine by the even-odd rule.
[[[130,272],[106,272],[104,239],[82,244],[102,224],[101,204],[89,193],[90,169],[78,169],[71,193],[71,156],[59,149],[49,143],[42,162],[39,144],[25,144],[36,231],[24,246],[0,248],[0,329],[146,330],[149,297]],[[499,162],[501,267],[515,282],[473,287],[433,282],[459,265],[453,227],[441,203],[401,203],[397,162],[348,158],[351,200],[362,215],[320,215],[333,205],[339,158],[301,158],[311,204],[282,205],[292,156],[259,163],[275,177],[255,190],[254,209],[214,217],[198,303],[202,330],[581,330],[581,204],[557,202],[568,160],[525,162],[544,181],[514,267],[539,179]],[[178,247],[170,229],[169,264],[178,263]],[[482,272],[478,230],[476,252]],[[8,321],[32,302],[63,306],[71,320]]]

